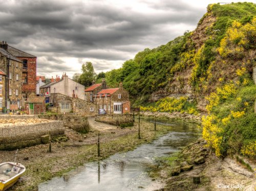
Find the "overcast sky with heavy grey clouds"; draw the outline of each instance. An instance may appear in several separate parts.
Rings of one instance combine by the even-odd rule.
[[[37,56],[37,75],[72,77],[87,61],[99,73],[195,30],[217,2],[238,1],[0,0],[0,40]]]

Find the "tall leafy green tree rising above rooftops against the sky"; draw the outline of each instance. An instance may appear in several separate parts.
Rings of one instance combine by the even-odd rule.
[[[94,72],[92,62],[86,62],[82,64],[82,74],[80,75],[80,83],[86,87],[92,85],[93,81],[95,80],[96,73]]]

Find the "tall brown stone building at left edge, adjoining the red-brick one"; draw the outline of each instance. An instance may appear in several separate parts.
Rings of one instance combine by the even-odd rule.
[[[2,108],[17,110],[22,104],[23,62],[7,52],[6,47],[7,43],[0,43],[0,69],[6,75],[5,82],[2,75]]]

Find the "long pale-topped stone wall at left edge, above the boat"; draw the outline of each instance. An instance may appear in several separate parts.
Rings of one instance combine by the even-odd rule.
[[[17,117],[12,118],[18,119],[25,116],[31,117],[31,115],[17,115]],[[15,150],[41,144],[40,137],[45,134],[51,134],[51,136],[65,134],[63,122],[53,121],[1,127],[0,150]]]

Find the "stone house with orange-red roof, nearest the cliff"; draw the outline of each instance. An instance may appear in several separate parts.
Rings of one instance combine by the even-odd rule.
[[[102,89],[94,95],[95,104],[105,109],[108,114],[130,113],[129,93],[122,83],[118,88]]]

